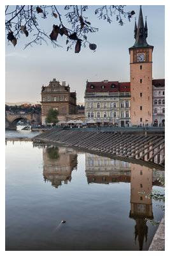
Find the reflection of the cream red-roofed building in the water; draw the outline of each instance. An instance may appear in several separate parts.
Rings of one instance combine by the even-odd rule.
[[[85,172],[88,183],[130,182],[130,164],[117,159],[85,154]]]

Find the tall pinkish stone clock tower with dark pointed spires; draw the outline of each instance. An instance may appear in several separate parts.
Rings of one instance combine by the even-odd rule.
[[[131,67],[131,124],[152,124],[152,52],[146,42],[147,22],[140,6],[138,28],[134,25],[134,45],[129,48]]]

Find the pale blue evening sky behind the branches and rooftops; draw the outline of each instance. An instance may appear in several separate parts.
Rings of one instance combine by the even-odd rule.
[[[59,6],[61,9],[62,6]],[[53,78],[69,84],[71,92],[76,91],[77,103],[83,104],[86,81],[130,81],[129,47],[134,45],[134,18],[139,15],[139,5],[127,5],[126,11],[136,12],[131,22],[124,20],[120,26],[113,15],[113,22],[99,20],[94,15],[96,6],[89,6],[85,16],[92,26],[99,28],[88,35],[90,43],[97,45],[96,51],[89,46],[81,47],[76,54],[73,49],[67,51],[66,37],[58,36],[57,43],[62,47],[33,44],[24,49],[29,36],[20,36],[17,45],[5,41],[5,102],[35,102],[41,100],[41,86],[48,86]],[[165,78],[165,6],[142,5],[143,19],[147,16],[147,42],[153,49],[153,79]],[[49,33],[53,24],[59,24],[55,17],[41,20],[42,28]]]

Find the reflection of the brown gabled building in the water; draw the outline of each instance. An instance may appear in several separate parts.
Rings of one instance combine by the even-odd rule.
[[[77,166],[77,154],[72,148],[43,148],[43,175],[58,188],[64,181],[71,181],[71,172]]]

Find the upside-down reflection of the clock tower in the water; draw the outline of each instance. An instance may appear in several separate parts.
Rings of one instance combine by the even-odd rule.
[[[135,241],[138,237],[139,250],[143,241],[147,241],[148,227],[145,218],[153,219],[152,199],[145,198],[139,192],[150,193],[152,190],[152,169],[138,164],[131,164],[131,211],[130,218],[136,221]]]

